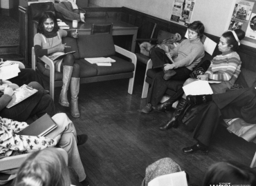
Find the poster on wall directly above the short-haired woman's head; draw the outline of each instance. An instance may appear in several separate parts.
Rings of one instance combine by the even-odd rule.
[[[174,0],[170,21],[188,25],[191,21],[196,0]]]

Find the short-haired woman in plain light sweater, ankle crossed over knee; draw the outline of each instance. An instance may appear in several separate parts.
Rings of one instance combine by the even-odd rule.
[[[152,48],[150,57],[153,68],[157,68],[160,72],[154,76],[147,95],[147,105],[141,112],[147,114],[152,111],[152,105],[158,104],[172,80],[185,81],[190,77],[193,68],[204,56],[203,43],[201,43],[203,32],[203,23],[194,21],[188,25],[188,39],[182,41],[173,50],[169,51],[169,48],[163,48],[161,45]],[[174,63],[167,57],[167,54],[173,57]]]

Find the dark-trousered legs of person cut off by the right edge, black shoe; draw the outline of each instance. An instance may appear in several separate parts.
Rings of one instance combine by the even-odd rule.
[[[194,129],[193,137],[198,143],[183,148],[184,154],[208,153],[210,140],[221,119],[243,118],[247,123],[256,123],[255,87],[221,94],[188,95],[187,101],[190,105],[199,105],[198,113],[186,126],[188,129]]]

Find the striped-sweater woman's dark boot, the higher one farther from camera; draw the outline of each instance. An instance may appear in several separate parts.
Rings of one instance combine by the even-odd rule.
[[[170,97],[167,101],[164,103],[158,104],[156,107],[153,107],[154,110],[156,111],[161,111],[161,112],[167,112],[172,109],[172,104],[179,100],[181,96],[184,94],[183,88],[181,87],[174,96]]]

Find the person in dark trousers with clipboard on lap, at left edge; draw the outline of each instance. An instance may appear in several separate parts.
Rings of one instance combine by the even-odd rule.
[[[36,115],[39,118],[46,113],[50,116],[56,113],[53,99],[39,83],[31,82],[28,86],[35,88],[38,92],[10,108],[6,108],[6,105],[12,100],[12,94],[14,94],[12,87],[6,87],[3,92],[0,92],[1,117],[26,121],[30,116]]]

